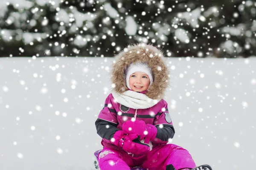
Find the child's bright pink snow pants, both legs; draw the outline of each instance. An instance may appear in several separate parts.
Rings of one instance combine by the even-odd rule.
[[[107,144],[99,154],[100,170],[130,170],[135,166],[148,170],[166,170],[166,165],[169,164],[176,170],[196,167],[189,152],[175,144],[161,144],[147,155],[136,157],[112,144]]]

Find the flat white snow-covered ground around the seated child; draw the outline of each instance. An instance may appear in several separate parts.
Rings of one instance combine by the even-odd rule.
[[[0,169],[91,170],[113,58],[0,58]],[[173,143],[213,170],[256,169],[256,58],[169,58]]]

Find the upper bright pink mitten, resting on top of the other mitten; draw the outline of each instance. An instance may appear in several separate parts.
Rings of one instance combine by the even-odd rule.
[[[128,120],[122,124],[122,130],[126,134],[138,134],[140,135],[140,140],[145,138],[146,124],[143,120]]]

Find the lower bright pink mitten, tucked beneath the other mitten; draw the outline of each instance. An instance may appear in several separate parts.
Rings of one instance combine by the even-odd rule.
[[[111,142],[126,152],[136,155],[147,154],[150,151],[148,144],[140,142],[138,134],[126,135],[122,130],[116,131]]]

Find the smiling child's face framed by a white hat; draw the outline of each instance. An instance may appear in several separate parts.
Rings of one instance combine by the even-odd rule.
[[[147,74],[136,71],[135,73],[131,74],[129,78],[129,85],[132,91],[145,91],[148,89],[150,84],[150,79]],[[137,88],[135,86],[140,86],[142,88]]]

